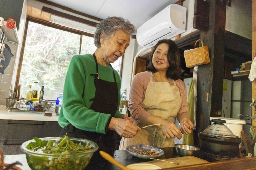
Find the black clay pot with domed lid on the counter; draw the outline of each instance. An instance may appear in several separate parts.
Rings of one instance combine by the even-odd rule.
[[[225,120],[213,119],[210,126],[198,134],[200,149],[210,155],[222,158],[237,157],[241,138],[235,136],[225,123]]]

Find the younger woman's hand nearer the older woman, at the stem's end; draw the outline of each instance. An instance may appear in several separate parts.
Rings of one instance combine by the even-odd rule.
[[[168,122],[168,121],[163,121],[161,122],[160,126],[161,130],[163,131],[163,134],[165,134],[166,137],[168,138],[175,138],[175,136],[178,139],[182,138],[182,134],[180,130],[177,128],[177,126],[174,123]]]

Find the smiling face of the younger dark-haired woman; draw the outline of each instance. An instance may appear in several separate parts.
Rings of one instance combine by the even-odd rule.
[[[168,49],[168,44],[162,43],[157,46],[153,54],[152,63],[158,71],[167,71],[170,66],[167,58]]]

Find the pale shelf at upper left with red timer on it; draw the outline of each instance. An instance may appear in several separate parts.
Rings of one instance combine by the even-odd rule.
[[[6,27],[6,21],[3,22],[3,25],[0,26],[2,28],[2,31],[0,29],[0,34],[2,32],[5,33],[5,39],[4,42],[8,42],[8,43],[13,43],[13,44],[19,44],[19,39],[18,39],[18,30],[16,28],[16,24],[15,27],[13,29],[9,29]]]

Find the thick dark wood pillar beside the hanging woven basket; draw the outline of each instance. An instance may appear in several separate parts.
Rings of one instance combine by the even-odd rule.
[[[221,116],[222,110],[226,0],[207,1],[210,3],[209,30],[202,31],[200,39],[209,47],[211,62],[198,66],[195,145],[199,145],[198,132],[210,125],[211,116]]]

